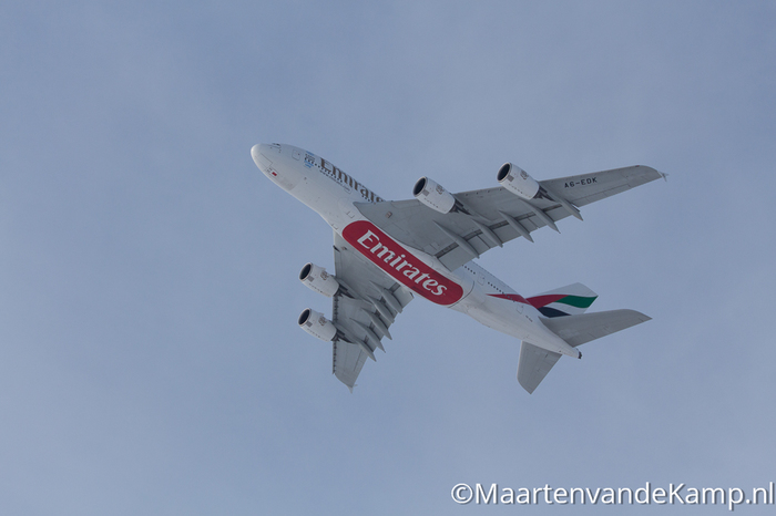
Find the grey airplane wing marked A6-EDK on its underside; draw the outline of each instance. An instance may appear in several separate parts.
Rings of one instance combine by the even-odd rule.
[[[469,211],[441,214],[417,199],[356,203],[361,214],[385,233],[433,255],[450,270],[501,244],[573,215],[590,203],[664,177],[647,166],[630,166],[539,182],[552,198],[522,200],[504,187],[455,194]],[[561,198],[565,203],[554,199]],[[565,204],[565,206],[564,206]],[[571,206],[569,206],[571,205]],[[557,229],[557,228],[555,228]]]

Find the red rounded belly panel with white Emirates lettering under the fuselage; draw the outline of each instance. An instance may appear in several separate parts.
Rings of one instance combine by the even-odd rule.
[[[370,221],[348,225],[343,237],[398,282],[437,305],[453,305],[463,297],[460,285],[423,264]]]

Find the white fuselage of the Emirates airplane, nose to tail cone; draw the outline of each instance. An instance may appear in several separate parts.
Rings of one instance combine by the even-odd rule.
[[[382,233],[354,203],[384,199],[330,162],[292,145],[259,144],[251,154],[269,179],[313,208],[353,249],[416,295],[508,336],[579,357],[576,349],[541,322],[539,310],[479,265],[469,261],[450,271],[435,256]]]

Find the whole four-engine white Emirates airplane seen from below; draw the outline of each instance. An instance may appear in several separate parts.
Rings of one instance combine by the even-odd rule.
[[[334,268],[308,262],[299,280],[331,298],[333,316],[303,310],[299,327],[333,343],[333,373],[353,393],[367,359],[385,352],[382,339],[419,296],[466,313],[521,342],[518,381],[533,393],[562,355],[579,345],[645,322],[634,310],[585,313],[598,295],[581,283],[524,298],[473,260],[524,238],[579,208],[666,175],[647,166],[537,180],[512,163],[498,186],[452,194],[429,177],[415,198],[386,200],[331,162],[285,144],[257,144],[256,166],[313,208],[334,229]]]

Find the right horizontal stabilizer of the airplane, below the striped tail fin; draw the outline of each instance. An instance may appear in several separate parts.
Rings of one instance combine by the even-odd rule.
[[[625,328],[646,322],[651,317],[635,310],[610,310],[579,316],[553,317],[542,322],[558,337],[573,347],[600,339]]]

